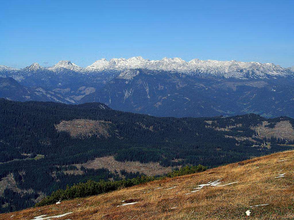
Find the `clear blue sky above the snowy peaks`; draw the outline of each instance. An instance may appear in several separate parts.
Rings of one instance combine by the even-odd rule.
[[[2,1],[0,64],[113,57],[294,65],[294,1]]]

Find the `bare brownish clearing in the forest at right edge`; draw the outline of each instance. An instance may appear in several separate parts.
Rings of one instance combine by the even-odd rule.
[[[275,138],[294,139],[294,130],[289,121],[280,121],[276,123],[274,128],[265,127],[267,124],[267,121],[263,121],[262,125],[255,128],[258,136],[267,138],[274,136]]]

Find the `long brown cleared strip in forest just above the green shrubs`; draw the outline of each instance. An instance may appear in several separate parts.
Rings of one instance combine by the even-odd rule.
[[[87,163],[76,165],[78,168],[83,165],[87,168],[106,168],[109,171],[114,170],[126,170],[127,172],[140,172],[149,176],[153,175],[163,175],[165,173],[171,172],[172,167],[162,167],[159,163],[140,163],[137,161],[126,161],[119,162],[114,159],[113,156],[96,158]]]

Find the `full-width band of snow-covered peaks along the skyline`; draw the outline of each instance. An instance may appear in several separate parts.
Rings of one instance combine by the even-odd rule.
[[[71,61],[61,60],[52,67],[41,67],[38,63],[33,63],[31,66],[24,69],[16,70],[12,67],[0,65],[0,72],[14,71],[39,71],[42,69],[52,72],[62,72],[70,70],[83,74],[91,74],[93,72],[101,72],[105,70],[127,70],[127,69],[148,69],[156,71],[172,71],[187,75],[207,76],[212,75],[224,78],[273,78],[293,76],[294,67],[283,68],[280,65],[273,63],[260,62],[241,62],[236,60],[217,61],[217,60],[199,60],[193,59],[189,62],[181,58],[163,58],[162,60],[148,60],[139,57],[113,58],[109,61],[100,59],[92,65],[85,68],[79,67]]]

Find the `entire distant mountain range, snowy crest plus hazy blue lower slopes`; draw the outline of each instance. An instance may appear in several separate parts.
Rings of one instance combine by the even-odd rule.
[[[289,108],[294,106],[293,71],[294,67],[273,63],[142,57],[101,59],[85,68],[64,60],[52,67],[0,65],[0,76],[10,78],[0,81],[0,97],[71,104],[96,101],[155,116],[294,117]],[[20,92],[24,87],[27,92]]]

